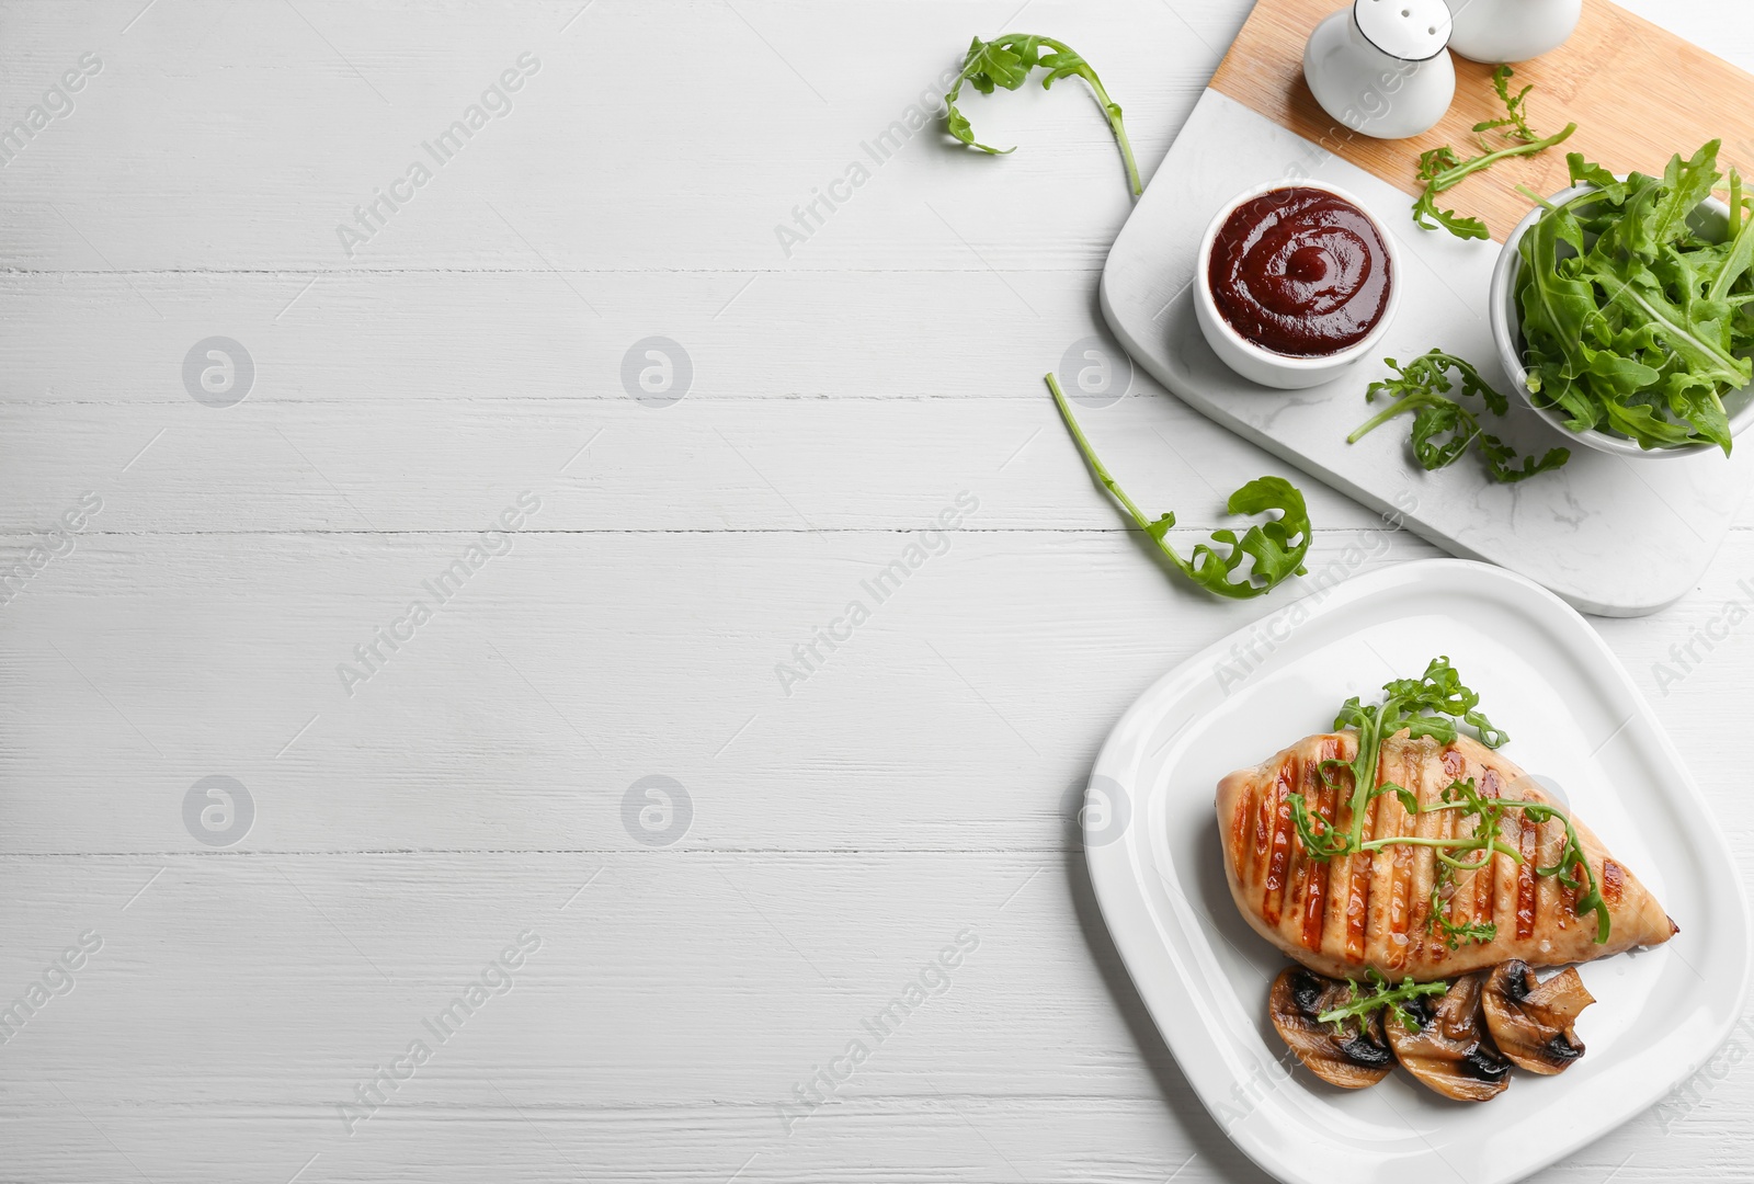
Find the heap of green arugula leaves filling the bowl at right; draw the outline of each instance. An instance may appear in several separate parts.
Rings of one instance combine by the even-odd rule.
[[[1729,454],[1722,396],[1754,381],[1754,218],[1731,170],[1722,242],[1687,218],[1721,181],[1719,142],[1670,158],[1661,177],[1619,181],[1572,153],[1594,189],[1545,207],[1517,244],[1528,388],[1573,432],[1619,432],[1642,447],[1715,444]],[[1526,189],[1524,189],[1526,191]],[[1538,200],[1538,198],[1537,198]]]

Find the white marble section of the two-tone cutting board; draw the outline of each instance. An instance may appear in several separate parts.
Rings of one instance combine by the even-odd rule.
[[[1103,316],[1140,365],[1189,407],[1312,477],[1372,509],[1403,510],[1410,530],[1445,551],[1521,572],[1584,612],[1642,616],[1694,588],[1747,493],[1745,446],[1731,460],[1608,456],[1566,440],[1512,398],[1494,432],[1521,449],[1568,444],[1572,460],[1501,486],[1472,456],[1440,472],[1419,468],[1407,419],[1345,442],[1372,414],[1365,388],[1387,374],[1380,361],[1305,391],[1256,386],[1224,367],[1194,325],[1194,254],[1224,202],[1273,177],[1338,184],[1394,235],[1405,286],[1384,358],[1405,361],[1442,346],[1512,391],[1486,319],[1500,244],[1417,230],[1405,193],[1214,89],[1201,95],[1103,267]],[[1465,188],[1452,196],[1465,203]]]

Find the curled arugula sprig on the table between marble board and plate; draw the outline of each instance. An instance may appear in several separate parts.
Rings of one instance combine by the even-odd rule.
[[[1126,512],[1138,523],[1138,528],[1151,535],[1158,549],[1187,579],[1219,596],[1249,600],[1252,596],[1265,596],[1291,575],[1303,575],[1303,556],[1308,554],[1314,531],[1310,530],[1308,510],[1303,505],[1303,493],[1289,481],[1284,477],[1256,477],[1231,493],[1226,507],[1231,514],[1279,510],[1279,517],[1249,526],[1240,540],[1233,530],[1216,530],[1212,531],[1212,542],[1228,547],[1228,551],[1221,553],[1217,547],[1200,542],[1194,544],[1193,558],[1184,560],[1168,542],[1170,528],[1175,526],[1175,514],[1163,514],[1156,521],[1147,517],[1133,503],[1133,498],[1123,493],[1103,463],[1096,460],[1091,442],[1084,439],[1084,430],[1079,426],[1077,417],[1073,417],[1072,407],[1066,405],[1066,396],[1061,393],[1059,381],[1052,374],[1047,374],[1047,389],[1054,395],[1059,414],[1065,416],[1066,426],[1072,428],[1072,439],[1077,440],[1079,451],[1084,453],[1084,460],[1096,474],[1096,479],[1126,507]],[[1242,579],[1231,579],[1244,560],[1252,560],[1252,568]]]

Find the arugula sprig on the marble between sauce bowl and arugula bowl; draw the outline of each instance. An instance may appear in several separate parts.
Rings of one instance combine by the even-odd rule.
[[[1480,417],[1449,396],[1454,386],[1449,372],[1454,370],[1461,379],[1461,398],[1477,395],[1486,403],[1486,410],[1494,416],[1503,416],[1510,409],[1510,402],[1493,389],[1466,360],[1447,354],[1442,349],[1431,349],[1405,367],[1394,361],[1394,358],[1386,358],[1386,363],[1394,370],[1394,377],[1372,382],[1365,389],[1365,402],[1373,403],[1382,395],[1389,398],[1389,405],[1361,423],[1352,435],[1345,437],[1347,444],[1358,444],[1394,416],[1414,412],[1414,456],[1426,472],[1454,465],[1470,446],[1486,461],[1487,475],[1498,482],[1526,481],[1535,474],[1559,468],[1572,460],[1572,449],[1552,447],[1540,460],[1522,456],[1522,463],[1517,465],[1517,451],[1491,432],[1484,432]]]

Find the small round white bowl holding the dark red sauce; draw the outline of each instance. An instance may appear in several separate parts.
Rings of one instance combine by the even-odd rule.
[[[1212,300],[1212,244],[1217,240],[1217,232],[1224,226],[1224,219],[1228,219],[1238,205],[1252,202],[1263,193],[1272,193],[1273,189],[1321,189],[1323,193],[1331,193],[1337,198],[1351,202],[1363,210],[1365,218],[1368,218],[1377,228],[1377,239],[1382,240],[1382,249],[1389,256],[1389,303],[1382,310],[1382,319],[1379,319],[1363,339],[1338,353],[1305,358],[1256,346],[1231,328],[1230,321],[1224,319],[1224,314],[1219,312],[1217,302]],[[1394,249],[1394,239],[1382,228],[1382,223],[1377,221],[1361,200],[1340,186],[1328,184],[1326,181],[1268,181],[1233,196],[1212,218],[1212,225],[1207,226],[1205,237],[1200,240],[1200,254],[1194,258],[1194,319],[1200,323],[1200,333],[1207,339],[1207,344],[1212,346],[1212,353],[1216,353],[1219,361],[1226,367],[1251,382],[1259,382],[1261,386],[1272,386],[1282,391],[1294,391],[1305,386],[1321,386],[1330,379],[1337,379],[1366,354],[1377,351],[1384,333],[1389,332],[1389,323],[1394,321],[1396,309],[1401,305],[1401,282],[1405,282],[1405,272],[1401,270],[1401,258]]]

